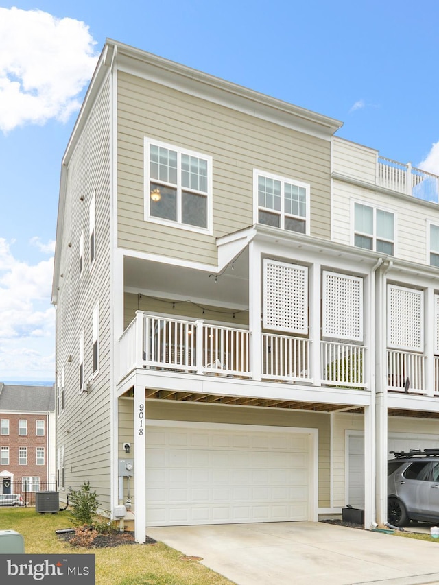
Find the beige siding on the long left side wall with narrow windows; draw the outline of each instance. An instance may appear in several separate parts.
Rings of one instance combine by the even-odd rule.
[[[62,245],[56,250],[61,257],[62,274],[58,291],[57,370],[64,368],[65,372],[65,409],[57,420],[57,444],[65,449],[64,495],[90,481],[104,510],[110,508],[109,120],[107,79],[67,163]],[[90,270],[89,206],[93,192],[96,254]],[[80,278],[82,230],[84,270]],[[80,332],[84,330],[84,380],[88,380],[93,373],[93,309],[97,302],[99,372],[91,380],[90,392],[80,394]]]

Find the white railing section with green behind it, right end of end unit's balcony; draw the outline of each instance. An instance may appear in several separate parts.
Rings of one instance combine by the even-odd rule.
[[[366,387],[364,346],[322,342],[322,383],[333,386]]]

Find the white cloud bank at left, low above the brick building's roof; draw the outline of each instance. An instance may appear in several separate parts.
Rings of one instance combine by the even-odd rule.
[[[53,267],[53,256],[34,265],[15,259],[0,238],[0,381],[54,377]]]

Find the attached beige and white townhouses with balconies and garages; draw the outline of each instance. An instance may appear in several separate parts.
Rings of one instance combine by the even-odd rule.
[[[139,542],[385,521],[388,451],[439,446],[438,178],[340,126],[107,41],[62,163],[61,498]]]

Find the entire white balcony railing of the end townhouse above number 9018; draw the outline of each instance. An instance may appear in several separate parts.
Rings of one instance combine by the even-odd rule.
[[[119,339],[119,381],[136,368],[252,379],[250,348],[248,329],[137,311]],[[261,379],[367,387],[363,346],[321,342],[320,349],[320,363],[313,369],[310,339],[261,333]]]

